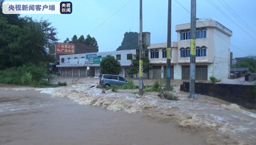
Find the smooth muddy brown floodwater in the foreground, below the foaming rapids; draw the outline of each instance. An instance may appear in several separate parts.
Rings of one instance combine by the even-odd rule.
[[[78,105],[40,91],[0,88],[1,145],[204,145],[208,138],[174,119]]]

